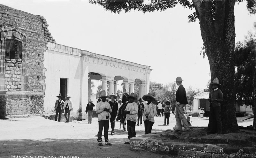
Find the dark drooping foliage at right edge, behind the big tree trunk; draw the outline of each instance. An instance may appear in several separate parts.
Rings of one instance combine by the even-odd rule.
[[[256,68],[256,22],[254,33],[249,32],[244,41],[236,43],[236,101],[239,105],[254,105]]]

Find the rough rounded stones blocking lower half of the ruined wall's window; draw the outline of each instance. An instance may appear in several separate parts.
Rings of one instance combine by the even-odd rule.
[[[21,89],[21,59],[5,59],[6,91],[20,91]]]

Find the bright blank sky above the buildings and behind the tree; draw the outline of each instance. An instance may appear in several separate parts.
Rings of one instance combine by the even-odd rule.
[[[89,0],[88,0],[89,1]],[[199,21],[181,5],[163,12],[114,14],[87,0],[0,0],[0,4],[42,15],[58,44],[151,66],[150,80],[166,84],[180,76],[184,87],[204,89],[210,79]],[[236,42],[253,28],[246,2],[235,5]]]

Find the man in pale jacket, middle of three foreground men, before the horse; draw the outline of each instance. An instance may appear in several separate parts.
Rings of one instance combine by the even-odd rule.
[[[135,126],[137,121],[138,105],[134,102],[134,100],[137,100],[137,98],[134,97],[133,93],[127,96],[126,99],[129,100],[129,103],[124,110],[127,120],[128,141],[126,141],[124,144],[130,144],[130,139],[136,136]]]

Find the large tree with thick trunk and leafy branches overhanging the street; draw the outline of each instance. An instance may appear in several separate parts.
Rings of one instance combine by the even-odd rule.
[[[184,8],[195,9],[188,16],[189,22],[199,19],[201,36],[204,42],[204,53],[207,54],[211,81],[219,78],[222,84],[224,102],[221,105],[222,131],[238,132],[235,115],[234,94],[234,48],[235,48],[235,3],[243,0],[90,0],[92,4],[99,4],[107,11],[120,13],[124,10],[152,12],[164,11],[181,4]],[[256,12],[255,1],[247,0],[247,8],[250,13]]]

